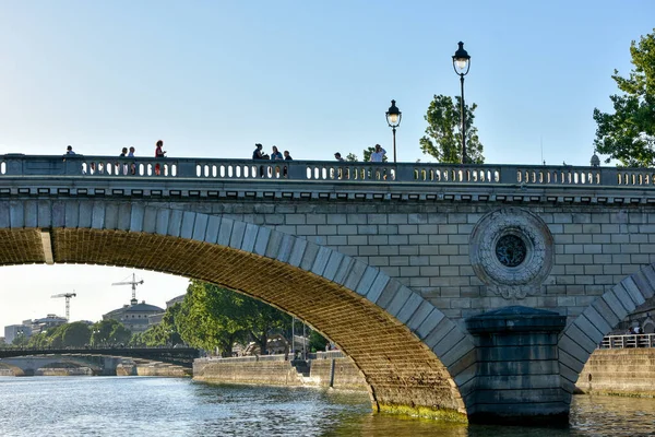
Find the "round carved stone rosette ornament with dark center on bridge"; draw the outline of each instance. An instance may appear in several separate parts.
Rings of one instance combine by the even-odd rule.
[[[475,274],[487,290],[505,299],[537,294],[553,263],[548,226],[519,208],[504,208],[480,218],[469,245]]]

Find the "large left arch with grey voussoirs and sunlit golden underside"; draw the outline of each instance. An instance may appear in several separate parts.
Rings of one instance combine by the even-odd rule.
[[[329,247],[215,215],[76,199],[0,209],[0,241],[3,264],[43,263],[51,250],[53,263],[139,268],[238,291],[336,342],[374,409],[466,413],[472,338],[398,281]]]

